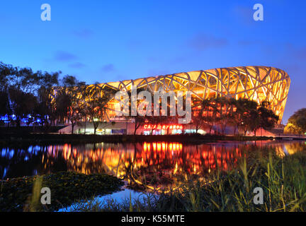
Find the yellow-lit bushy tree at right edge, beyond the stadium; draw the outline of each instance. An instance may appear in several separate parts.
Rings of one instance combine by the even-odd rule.
[[[290,116],[284,132],[295,134],[306,133],[306,108],[299,109]]]

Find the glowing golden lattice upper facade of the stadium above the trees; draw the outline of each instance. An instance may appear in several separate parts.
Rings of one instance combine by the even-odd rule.
[[[290,78],[285,71],[273,67],[238,66],[87,85],[86,89],[93,90],[94,98],[101,93],[99,90],[111,88],[114,91],[129,91],[132,85],[137,89],[151,92],[190,91],[192,100],[233,97],[247,98],[259,104],[269,102],[269,107],[278,115],[280,123],[288,97]],[[118,101],[114,99],[108,102],[104,120],[118,120],[114,111],[116,102]]]

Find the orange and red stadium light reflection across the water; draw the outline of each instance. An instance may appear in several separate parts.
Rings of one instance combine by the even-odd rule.
[[[299,143],[256,141],[248,143],[220,143],[183,145],[175,142],[153,143],[100,143],[84,145],[50,145],[47,156],[42,158],[45,169],[50,168],[55,158],[63,158],[67,169],[85,174],[106,172],[116,177],[139,184],[146,189],[159,190],[167,186],[179,187],[184,177],[205,178],[215,169],[228,170],[237,167],[244,150],[256,144],[273,145],[280,156],[304,150]]]

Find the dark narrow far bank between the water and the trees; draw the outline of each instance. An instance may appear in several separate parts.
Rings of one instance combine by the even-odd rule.
[[[273,139],[266,136],[214,136],[214,135],[84,135],[84,134],[57,134],[57,133],[6,133],[0,134],[0,145],[9,145],[10,143],[136,143],[136,142],[154,142],[168,141],[181,143],[203,143],[212,141],[260,141]]]

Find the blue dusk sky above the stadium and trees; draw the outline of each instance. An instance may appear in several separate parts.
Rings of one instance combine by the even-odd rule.
[[[51,21],[42,21],[42,4]],[[253,6],[263,5],[263,21]],[[0,1],[0,61],[104,83],[229,66],[291,78],[283,123],[306,107],[306,1]]]

